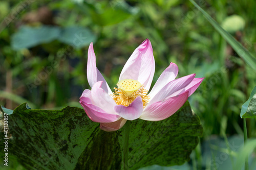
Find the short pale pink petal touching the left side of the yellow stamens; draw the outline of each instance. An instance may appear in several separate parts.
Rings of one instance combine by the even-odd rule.
[[[92,87],[92,102],[102,110],[110,114],[116,114],[114,106],[116,102],[102,89],[103,81],[96,82]]]

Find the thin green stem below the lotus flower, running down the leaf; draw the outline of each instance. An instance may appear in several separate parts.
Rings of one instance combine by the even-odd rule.
[[[123,170],[129,169],[128,167],[128,154],[129,154],[129,133],[130,133],[130,121],[124,125],[124,140],[123,140]]]

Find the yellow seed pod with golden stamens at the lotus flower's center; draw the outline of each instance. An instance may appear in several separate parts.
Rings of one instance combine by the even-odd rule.
[[[111,94],[112,98],[118,105],[129,106],[138,96],[141,97],[143,107],[150,101],[146,89],[137,80],[124,79],[117,83],[118,88]]]

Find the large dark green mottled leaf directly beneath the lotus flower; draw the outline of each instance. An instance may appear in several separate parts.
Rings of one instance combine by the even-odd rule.
[[[121,169],[123,128],[102,131],[80,108],[33,110],[22,104],[8,115],[8,124],[8,153],[27,169]],[[189,160],[202,131],[188,102],[165,120],[134,120],[128,165],[181,165]]]

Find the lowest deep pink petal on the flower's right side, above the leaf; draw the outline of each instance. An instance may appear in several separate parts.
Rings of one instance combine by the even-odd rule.
[[[184,105],[187,98],[188,92],[185,92],[173,98],[168,98],[165,101],[153,103],[144,109],[139,118],[150,121],[163,120],[178,111]]]

